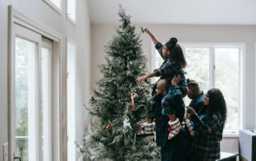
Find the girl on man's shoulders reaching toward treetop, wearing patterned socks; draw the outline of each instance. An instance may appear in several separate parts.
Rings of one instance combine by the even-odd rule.
[[[170,41],[166,42],[165,45],[162,45],[154,37],[154,35],[150,33],[149,29],[145,28],[144,31],[150,35],[152,41],[154,42],[155,48],[158,49],[158,53],[164,59],[164,61],[160,66],[160,68],[155,69],[153,73],[149,73],[146,76],[139,77],[138,82],[142,83],[146,81],[146,79],[149,79],[151,77],[160,77],[160,80],[162,79],[171,80],[174,76],[177,76],[179,74],[181,75],[181,81],[178,83],[178,88],[182,92],[182,96],[186,96],[187,84],[186,84],[186,78],[184,77],[184,72],[182,70],[182,68],[186,66],[186,59],[182,52],[181,46],[177,44],[178,42],[177,38],[172,37],[170,38]],[[154,84],[152,98],[148,106],[148,121],[147,121],[147,124],[144,124],[144,126],[147,129],[146,131],[147,133],[153,132],[154,125],[152,123],[153,122],[152,118],[154,118],[155,116],[155,106],[156,104],[158,104],[159,101],[161,101],[161,99],[158,98],[159,96],[154,92],[155,88],[157,87],[157,83]],[[172,91],[170,90],[170,92]],[[168,109],[163,108],[162,115],[166,115],[170,119],[170,122],[169,122],[170,134],[168,136],[168,139],[172,139],[182,129],[182,125],[181,125],[182,120],[179,120],[178,118],[176,118],[174,108],[168,108]]]

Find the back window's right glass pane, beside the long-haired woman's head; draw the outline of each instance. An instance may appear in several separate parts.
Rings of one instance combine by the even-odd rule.
[[[238,132],[239,49],[215,49],[215,85],[225,97],[227,107],[226,132]]]

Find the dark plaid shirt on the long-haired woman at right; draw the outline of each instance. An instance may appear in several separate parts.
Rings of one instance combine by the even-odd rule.
[[[194,123],[194,138],[192,139],[189,155],[198,161],[207,161],[220,158],[220,141],[225,122],[219,113],[199,116],[190,119]]]

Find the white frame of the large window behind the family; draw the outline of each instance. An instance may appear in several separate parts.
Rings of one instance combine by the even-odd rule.
[[[243,111],[246,107],[245,102],[245,93],[246,93],[246,87],[244,82],[246,82],[246,77],[244,77],[246,73],[246,64],[245,64],[245,49],[246,45],[245,43],[239,43],[239,42],[230,42],[230,43],[206,43],[206,42],[180,42],[179,45],[182,46],[183,52],[185,53],[185,48],[209,48],[210,49],[210,62],[209,62],[209,68],[210,68],[210,88],[214,88],[215,86],[215,58],[214,58],[214,49],[216,48],[238,48],[239,49],[239,107],[238,107],[238,130],[242,129],[244,127],[244,121],[243,121]],[[151,54],[151,71],[158,68],[156,66],[156,54],[157,51],[154,48],[154,44],[151,45],[152,54]],[[186,57],[186,56],[185,56]],[[151,82],[154,83],[156,79],[152,79]],[[226,137],[237,137],[238,132],[224,132],[224,136]]]

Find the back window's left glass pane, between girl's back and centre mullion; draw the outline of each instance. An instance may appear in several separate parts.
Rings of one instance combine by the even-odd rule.
[[[186,48],[186,78],[197,81],[203,92],[210,88],[210,49]],[[190,99],[186,96],[186,105]]]

